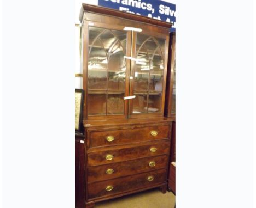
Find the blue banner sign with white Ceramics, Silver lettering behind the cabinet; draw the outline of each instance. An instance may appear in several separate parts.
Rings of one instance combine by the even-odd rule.
[[[170,31],[175,32],[175,4],[160,0],[98,0],[98,5],[126,13],[147,16],[164,22],[171,22],[173,26]]]

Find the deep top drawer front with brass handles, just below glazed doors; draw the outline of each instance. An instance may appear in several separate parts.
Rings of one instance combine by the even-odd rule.
[[[90,147],[127,144],[168,138],[170,127],[148,126],[135,129],[89,130]]]

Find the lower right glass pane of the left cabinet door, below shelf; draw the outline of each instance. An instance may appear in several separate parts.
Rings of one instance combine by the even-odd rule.
[[[124,114],[124,93],[108,92],[107,114]]]

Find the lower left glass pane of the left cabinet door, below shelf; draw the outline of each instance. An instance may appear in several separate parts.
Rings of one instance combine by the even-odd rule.
[[[106,115],[106,91],[88,91],[88,115]]]

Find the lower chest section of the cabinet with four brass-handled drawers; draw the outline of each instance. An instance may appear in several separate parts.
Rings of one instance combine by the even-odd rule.
[[[167,183],[171,123],[86,129],[86,200]]]

